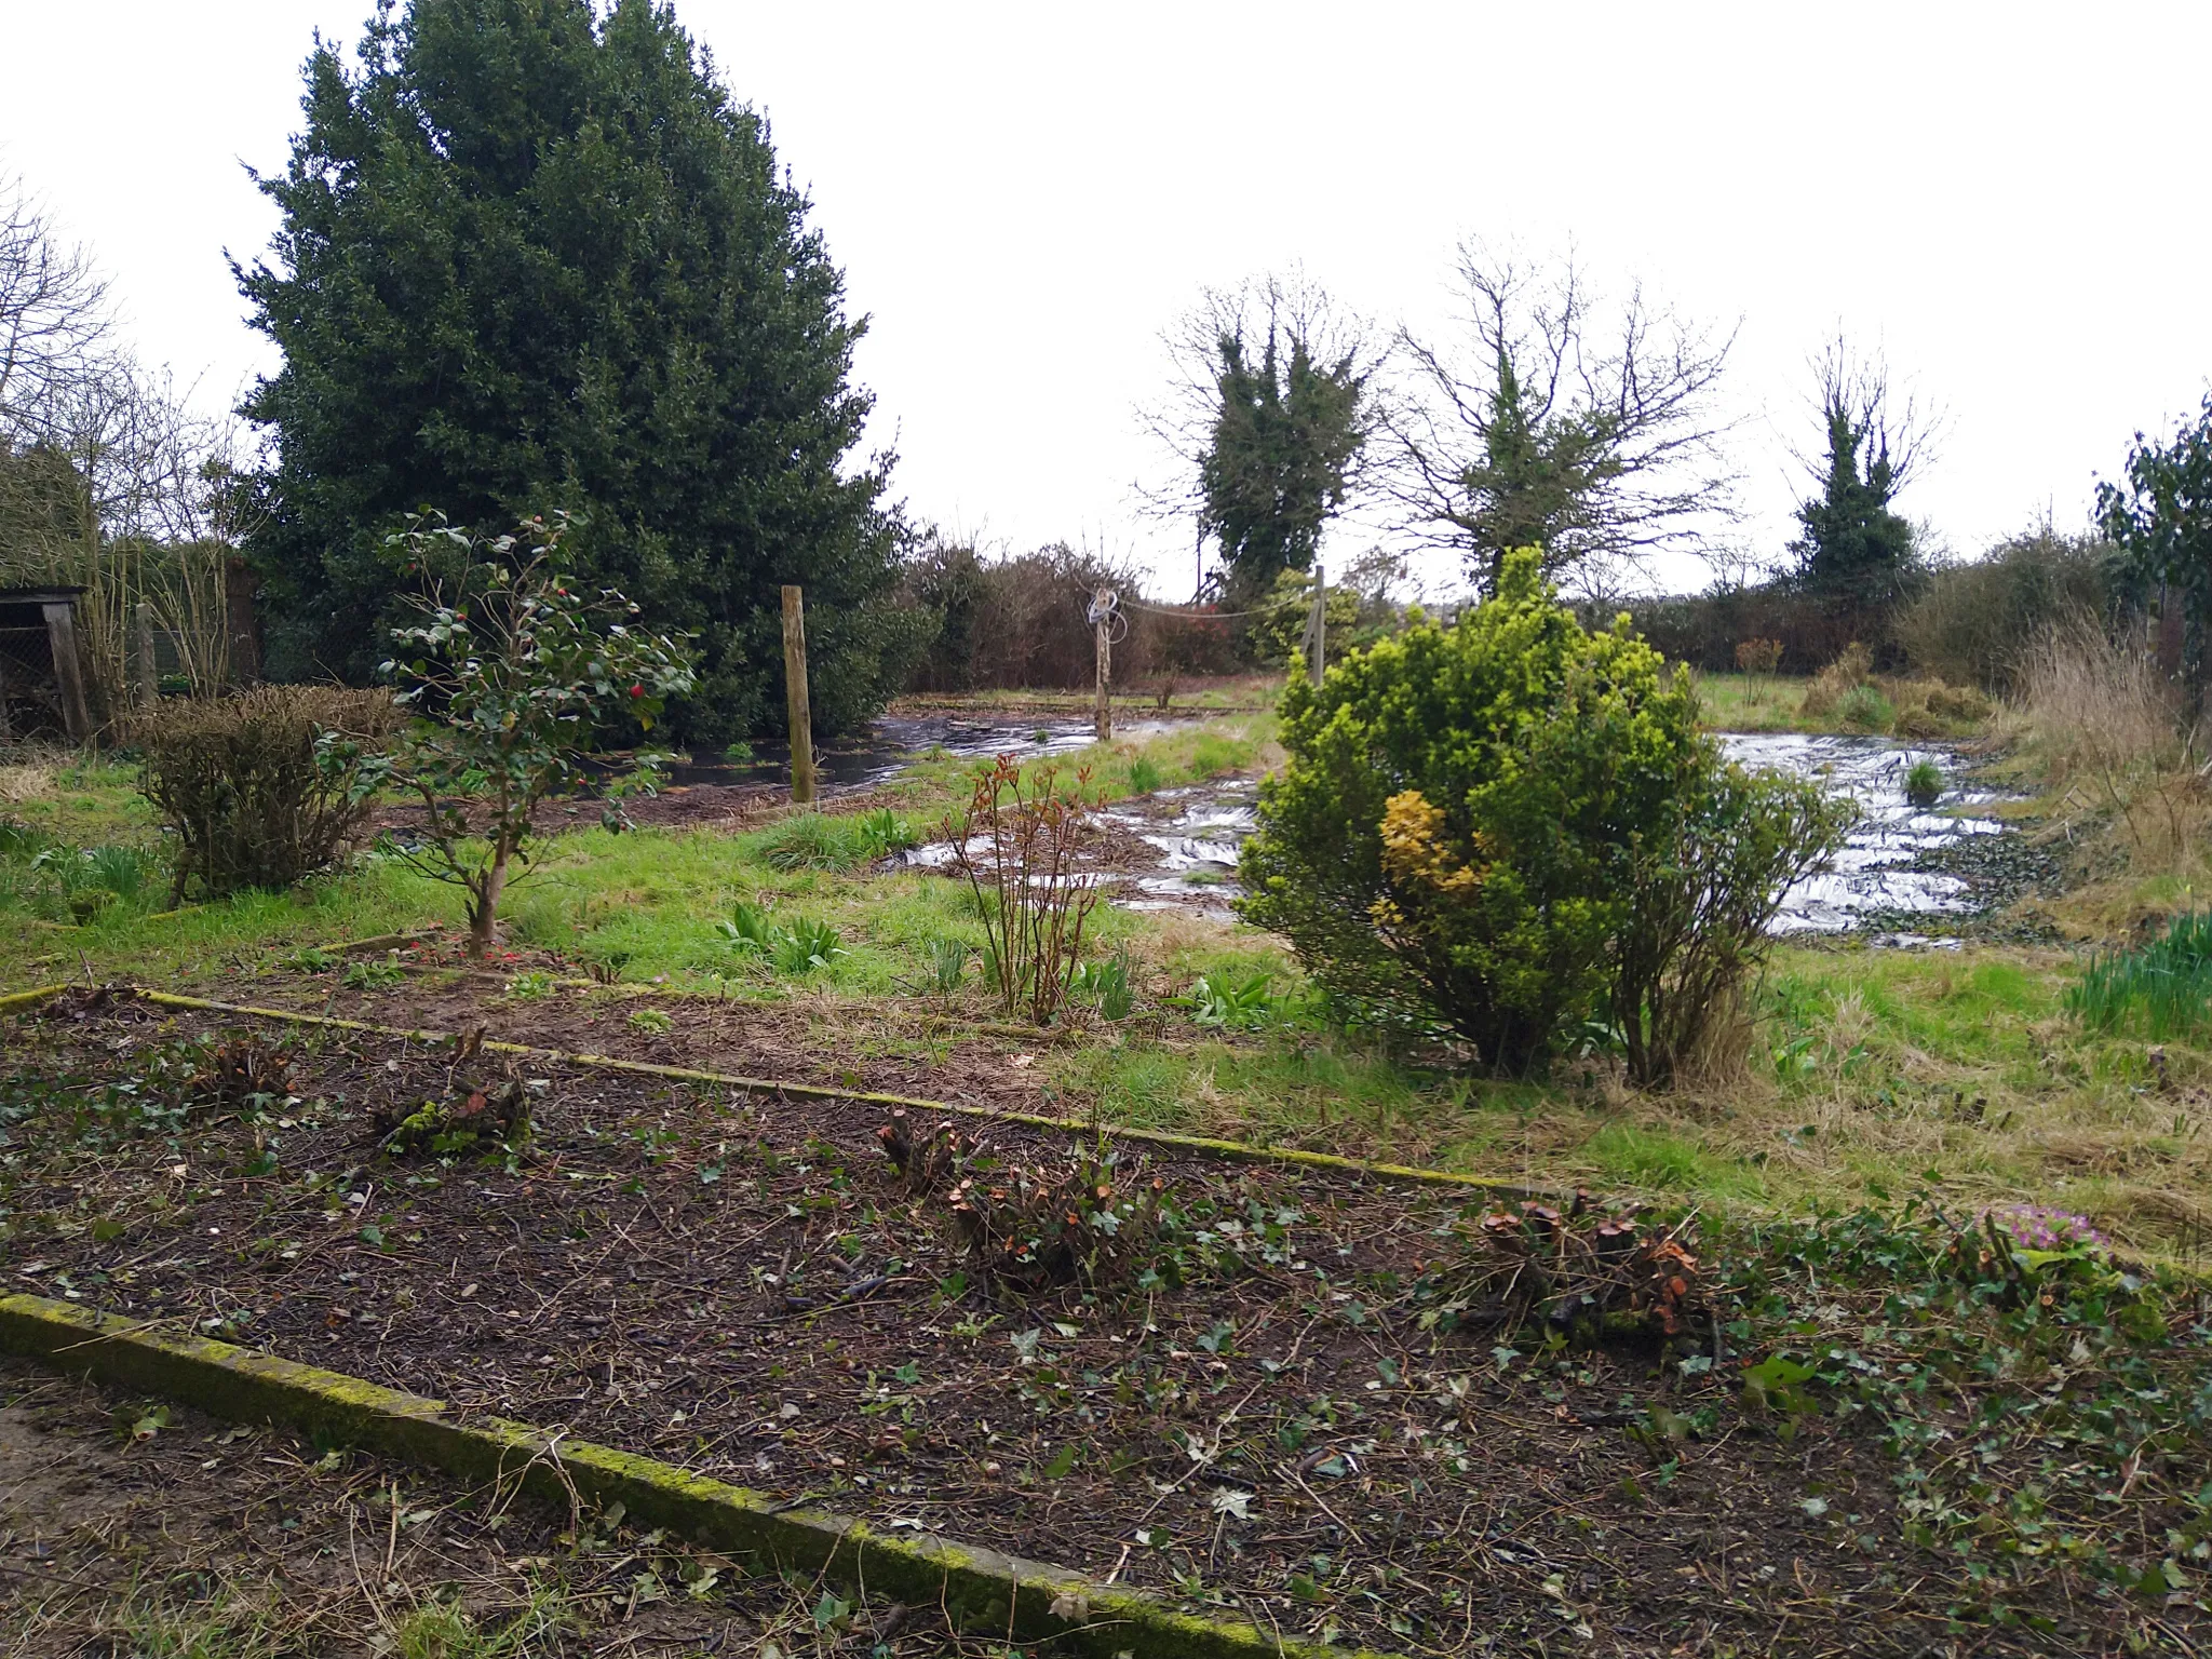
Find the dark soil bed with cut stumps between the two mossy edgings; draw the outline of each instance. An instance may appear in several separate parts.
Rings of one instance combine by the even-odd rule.
[[[1588,1347],[1455,1303],[1491,1243],[1464,1190],[1124,1150],[1104,1179],[1172,1225],[1020,1290],[883,1108],[279,1026],[281,1068],[210,1095],[237,1029],[93,993],[0,1020],[15,1287],[1387,1652],[2117,1652],[2203,1619],[2185,1551],[2150,1597],[1913,1542],[1878,1413],[1776,1409],[1772,1367],[1745,1405],[1763,1329],[1714,1363],[1710,1323]],[[509,1084],[526,1137],[380,1146]],[[1071,1168],[1066,1135],[982,1133]],[[1880,1307],[1829,1279],[1796,1340]],[[1958,1458],[1982,1405],[1929,1407]],[[2157,1557],[2185,1517],[2148,1447],[2079,1524]]]

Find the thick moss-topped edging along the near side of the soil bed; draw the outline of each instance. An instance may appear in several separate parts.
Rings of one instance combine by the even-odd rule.
[[[1323,1659],[1241,1619],[1179,1613],[1139,1590],[929,1533],[900,1537],[818,1509],[695,1475],[504,1418],[458,1422],[442,1400],[46,1296],[0,1296],[0,1352],[144,1389],[226,1422],[323,1433],[473,1482],[520,1484],[538,1502],[611,1506],[666,1526],[752,1573],[799,1571],[907,1606],[942,1606],[964,1630],[1053,1641],[1086,1659]],[[1327,1659],[1383,1659],[1327,1648]]]

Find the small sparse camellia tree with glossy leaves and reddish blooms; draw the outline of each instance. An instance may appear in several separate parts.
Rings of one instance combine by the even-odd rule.
[[[529,867],[538,807],[584,776],[593,737],[619,723],[650,732],[695,684],[675,639],[628,622],[635,604],[575,580],[566,535],[562,513],[489,540],[429,513],[389,538],[425,584],[420,619],[392,630],[400,655],[383,664],[416,719],[387,754],[330,752],[358,765],[356,790],[422,799],[429,841],[400,856],[469,894],[476,960],[491,949],[509,880]],[[626,772],[593,779],[608,827],[659,761],[637,754]]]

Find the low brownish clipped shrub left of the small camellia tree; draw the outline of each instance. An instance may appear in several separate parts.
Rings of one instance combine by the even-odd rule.
[[[361,761],[398,726],[389,692],[259,686],[164,699],[133,717],[142,790],[177,836],[170,902],[290,887],[327,867],[367,821]]]

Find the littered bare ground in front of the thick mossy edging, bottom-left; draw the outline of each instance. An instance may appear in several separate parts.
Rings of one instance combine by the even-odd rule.
[[[511,1491],[0,1360],[11,1659],[982,1652],[929,1610],[821,1597],[606,1517],[571,1528]]]

